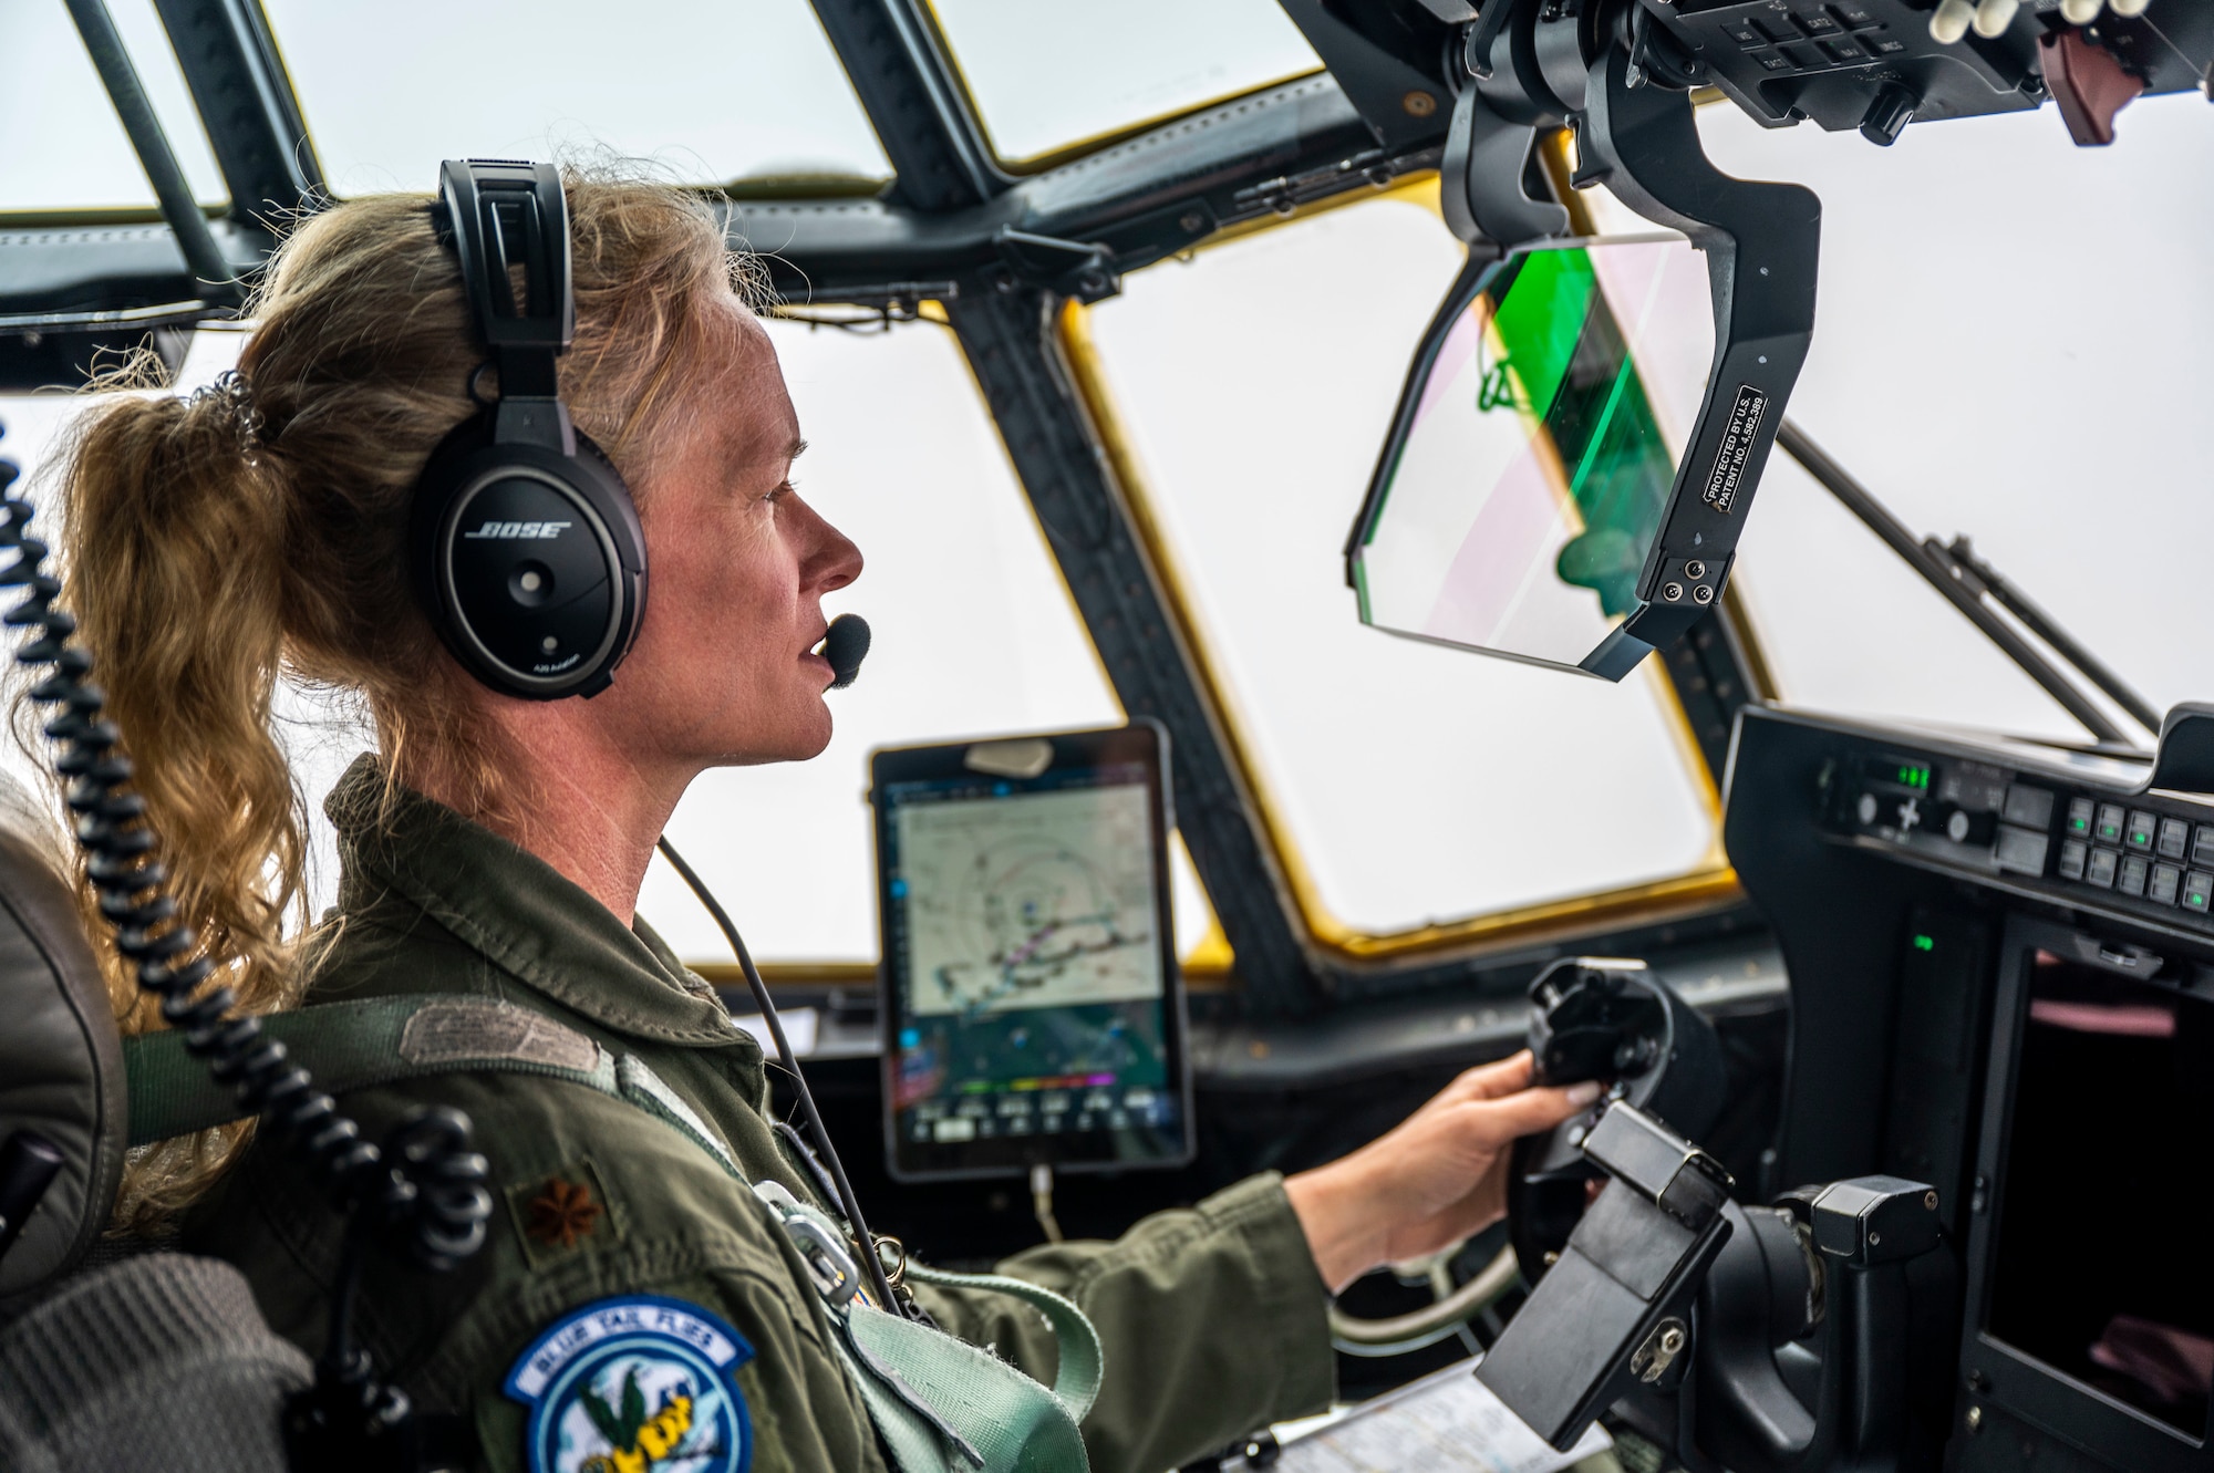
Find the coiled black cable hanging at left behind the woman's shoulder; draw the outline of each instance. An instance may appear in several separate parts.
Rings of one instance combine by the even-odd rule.
[[[31,504],[9,491],[15,478],[18,469],[0,460],[0,549],[15,551],[15,562],[0,568],[0,588],[24,591],[0,624],[33,635],[15,664],[51,670],[31,699],[53,712],[44,732],[58,748],[55,770],[69,779],[64,801],[100,913],[115,927],[115,949],[137,984],[162,1000],[162,1017],[184,1033],[186,1051],[277,1132],[341,1212],[418,1267],[454,1267],[483,1245],[492,1216],[489,1168],[469,1148],[467,1117],[423,1110],[379,1148],[361,1139],[283,1044],[261,1035],[261,1020],[232,1015],[237,995],[228,986],[201,993],[215,962],[197,955],[199,936],[166,894],[168,869],[155,854],[146,801],[128,792],[131,759],[120,752],[115,723],[102,717],[106,697],[91,683],[93,657],[71,644],[77,621],[55,608],[62,582],[44,566],[49,546],[31,535]]]

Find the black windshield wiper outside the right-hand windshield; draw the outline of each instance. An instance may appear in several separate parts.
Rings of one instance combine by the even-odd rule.
[[[2024,675],[2037,681],[2046,694],[2061,703],[2070,717],[2099,741],[2134,748],[2119,725],[2068,679],[2068,675],[2046,659],[2037,646],[2001,619],[1984,599],[1990,597],[2006,613],[2021,619],[2024,628],[2037,635],[2055,655],[2075,666],[2083,679],[2103,690],[2114,706],[2123,708],[2132,721],[2148,732],[2161,730],[2161,714],[2145,697],[2137,694],[2106,661],[2083,648],[2052,615],[2039,608],[2021,588],[2006,582],[1997,568],[1975,555],[1968,537],[1953,537],[1951,544],[1937,537],[1917,540],[1913,531],[1884,506],[1875,495],[1853,480],[1844,467],[1807,438],[1807,431],[1784,420],[1776,431],[1776,445],[1800,462],[1815,482],[1844,502],[1844,509],[1860,518],[1869,531],[1882,537],[1884,546],[1900,555],[1906,566],[1920,573],[1931,588],[1942,593],[1986,639],[2021,666]]]

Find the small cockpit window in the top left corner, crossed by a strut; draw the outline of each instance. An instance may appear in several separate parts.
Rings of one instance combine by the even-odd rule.
[[[111,0],[108,13],[193,197],[221,206],[224,177],[153,0]],[[62,4],[0,4],[0,137],[44,139],[0,148],[0,212],[153,217],[153,186]]]

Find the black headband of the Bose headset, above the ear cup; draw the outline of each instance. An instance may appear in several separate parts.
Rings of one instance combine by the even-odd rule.
[[[476,336],[500,372],[494,445],[540,445],[576,456],[554,361],[576,338],[569,290],[569,199],[551,164],[447,159],[438,168],[438,230],[461,259]],[[507,268],[523,268],[516,301]]]

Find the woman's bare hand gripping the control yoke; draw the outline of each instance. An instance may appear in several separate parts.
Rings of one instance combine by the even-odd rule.
[[[1530,1053],[1470,1068],[1388,1135],[1284,1181],[1333,1294],[1379,1263],[1435,1254],[1508,1212],[1514,1137],[1599,1099],[1596,1082],[1532,1088]]]

